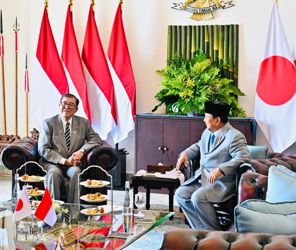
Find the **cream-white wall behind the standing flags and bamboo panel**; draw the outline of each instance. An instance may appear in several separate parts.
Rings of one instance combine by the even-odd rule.
[[[157,104],[154,96],[160,90],[157,85],[160,77],[155,70],[166,66],[167,26],[168,25],[215,25],[239,24],[239,88],[247,97],[239,97],[240,105],[247,116],[253,116],[255,103],[255,87],[265,42],[266,28],[273,0],[234,0],[235,7],[218,10],[210,21],[189,19],[189,12],[171,9],[173,0],[124,0],[123,22],[126,38],[136,80],[136,113],[149,113]],[[178,2],[178,1],[175,1]],[[67,11],[67,0],[49,0],[49,20],[59,53],[62,50],[62,39]],[[73,4],[73,22],[81,51],[90,1],[75,0]],[[105,52],[107,52],[110,33],[113,25],[118,0],[97,0],[95,18]],[[32,76],[36,47],[38,42],[41,17],[44,4],[41,0],[0,0],[3,15],[5,42],[5,93],[7,113],[7,134],[15,133],[15,77],[12,24],[17,15],[20,23],[19,31],[19,64],[18,64],[18,134],[25,136],[25,93],[24,72],[25,54],[28,53],[29,81]],[[287,40],[290,47],[296,36],[295,24],[291,20],[295,16],[296,1],[279,0],[281,14]],[[42,91],[42,89],[40,89]],[[0,91],[1,92],[1,91]],[[1,94],[0,94],[1,96]],[[29,95],[29,99],[34,98]],[[0,117],[3,117],[0,102]],[[46,103],[41,103],[46,108]],[[161,107],[156,113],[164,113]],[[58,113],[58,109],[57,109]],[[275,114],[276,115],[276,114]],[[294,115],[294,114],[291,114]],[[29,129],[40,129],[37,121],[29,113]],[[0,122],[0,134],[3,134],[3,121]],[[112,142],[112,138],[108,137]],[[266,144],[266,138],[258,127],[257,144]],[[267,143],[268,144],[268,143]],[[132,173],[134,167],[134,131],[128,138],[119,143],[130,153],[127,156],[127,172]],[[285,152],[295,153],[296,146]],[[174,161],[176,159],[172,159]]]

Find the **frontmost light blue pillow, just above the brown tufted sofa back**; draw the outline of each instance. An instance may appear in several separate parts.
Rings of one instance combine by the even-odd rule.
[[[279,214],[253,210],[237,205],[234,209],[234,224],[242,233],[271,233],[274,235],[296,234],[296,213]]]

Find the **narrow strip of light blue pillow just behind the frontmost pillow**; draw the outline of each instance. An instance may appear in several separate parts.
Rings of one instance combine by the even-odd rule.
[[[251,208],[256,211],[267,212],[267,213],[279,213],[279,214],[296,213],[296,201],[270,203],[264,200],[250,199],[250,200],[245,200],[242,203],[242,206]]]

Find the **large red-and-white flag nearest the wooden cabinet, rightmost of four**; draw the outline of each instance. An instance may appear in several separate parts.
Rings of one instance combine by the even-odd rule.
[[[107,53],[116,99],[117,126],[110,132],[114,143],[125,139],[128,132],[135,128],[136,114],[136,83],[121,14],[119,3]]]

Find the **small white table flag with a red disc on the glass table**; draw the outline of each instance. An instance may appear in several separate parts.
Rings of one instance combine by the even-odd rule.
[[[32,214],[29,196],[26,188],[22,189],[20,199],[15,207],[15,212],[12,216],[12,222],[16,222]]]

